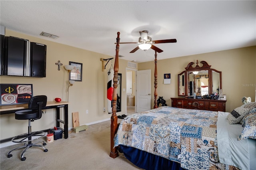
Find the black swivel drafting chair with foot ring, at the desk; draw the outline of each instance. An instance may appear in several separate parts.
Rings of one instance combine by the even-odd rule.
[[[28,120],[28,133],[20,134],[12,138],[12,142],[16,142],[16,143],[24,142],[24,146],[20,146],[18,148],[13,149],[13,150],[16,150],[16,149],[25,148],[21,153],[20,160],[26,160],[26,157],[24,157],[24,154],[26,150],[28,150],[28,148],[32,146],[40,146],[44,149],[44,152],[48,151],[48,149],[44,147],[44,145],[46,145],[44,141],[37,141],[34,143],[31,142],[33,140],[37,140],[45,136],[45,132],[43,131],[32,132],[31,122],[33,122],[34,120],[40,119],[42,117],[42,107],[46,106],[46,102],[47,102],[47,96],[44,96],[44,95],[34,96],[30,99],[27,110],[15,112],[15,119]],[[42,142],[43,145],[37,144],[39,142]],[[8,158],[12,157],[12,154],[10,153],[13,150],[8,152],[7,154]]]

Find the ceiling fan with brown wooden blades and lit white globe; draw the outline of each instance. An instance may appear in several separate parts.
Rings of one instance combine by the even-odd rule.
[[[123,42],[123,43],[138,43],[139,45],[134,48],[130,53],[134,53],[135,51],[137,51],[138,49],[142,49],[144,51],[148,50],[148,49],[154,49],[156,52],[161,53],[163,52],[162,49],[156,47],[155,43],[176,43],[177,40],[176,39],[168,39],[168,40],[151,40],[151,37],[148,36],[148,31],[144,30],[144,31],[140,31],[140,38],[139,38],[139,42]],[[121,43],[120,43],[121,44]]]

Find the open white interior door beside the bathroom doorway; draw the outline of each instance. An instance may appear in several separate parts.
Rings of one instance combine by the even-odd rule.
[[[136,74],[136,112],[140,113],[151,109],[151,70],[139,70]]]

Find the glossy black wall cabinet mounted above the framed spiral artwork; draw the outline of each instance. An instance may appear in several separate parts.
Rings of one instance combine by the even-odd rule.
[[[46,45],[5,37],[3,75],[46,77]]]

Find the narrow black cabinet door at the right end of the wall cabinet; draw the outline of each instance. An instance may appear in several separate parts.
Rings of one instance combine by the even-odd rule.
[[[31,77],[46,77],[46,45],[30,43]]]

